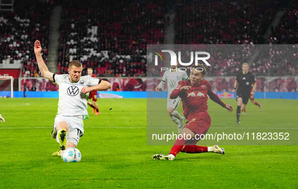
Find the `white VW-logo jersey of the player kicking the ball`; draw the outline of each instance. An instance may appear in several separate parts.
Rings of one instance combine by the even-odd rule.
[[[54,83],[59,85],[58,112],[64,116],[86,115],[87,95],[81,92],[83,87],[98,85],[101,80],[91,76],[82,76],[77,83],[69,80],[68,74],[54,75]]]

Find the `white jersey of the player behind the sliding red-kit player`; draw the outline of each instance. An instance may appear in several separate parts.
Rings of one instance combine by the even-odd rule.
[[[172,91],[176,88],[178,82],[187,80],[186,72],[170,72],[166,71],[162,76],[162,81],[167,82],[167,96],[169,97]]]

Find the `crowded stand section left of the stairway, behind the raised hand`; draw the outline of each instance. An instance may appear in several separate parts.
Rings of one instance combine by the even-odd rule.
[[[48,24],[51,4],[46,1],[15,1],[14,12],[0,13],[0,64],[23,65],[22,75],[39,77],[32,53],[35,39],[43,41],[43,58],[47,60]]]

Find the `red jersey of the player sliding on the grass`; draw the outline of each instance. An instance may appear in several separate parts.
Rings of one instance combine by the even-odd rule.
[[[183,86],[191,86],[192,88],[187,91],[180,91]],[[207,100],[208,96],[215,102],[222,106],[225,104],[218,98],[218,96],[212,91],[211,85],[208,81],[202,80],[198,85],[192,85],[189,80],[180,81],[170,95],[170,98],[181,97],[184,116],[186,119],[190,120],[199,112],[207,111]]]

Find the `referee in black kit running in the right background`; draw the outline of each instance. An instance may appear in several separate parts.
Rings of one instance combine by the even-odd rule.
[[[240,124],[240,112],[245,109],[246,104],[251,96],[251,93],[254,94],[254,88],[251,91],[252,85],[256,83],[255,76],[249,72],[249,64],[243,63],[242,64],[242,72],[237,75],[233,93],[237,89],[237,123]]]

